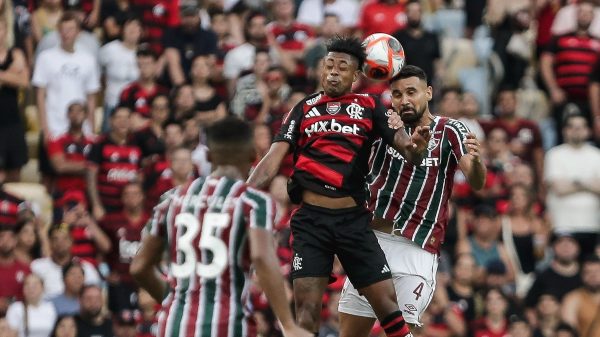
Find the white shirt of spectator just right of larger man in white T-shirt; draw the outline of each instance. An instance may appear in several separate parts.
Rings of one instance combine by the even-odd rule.
[[[125,47],[120,40],[115,40],[100,48],[98,62],[106,75],[104,104],[115,107],[123,88],[140,76],[135,50]]]

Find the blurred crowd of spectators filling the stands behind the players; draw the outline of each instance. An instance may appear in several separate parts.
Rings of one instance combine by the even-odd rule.
[[[260,158],[320,90],[325,41],[375,32],[488,167],[477,193],[454,177],[417,334],[600,336],[600,2],[584,0],[0,0],[0,336],[152,336],[128,266],[160,195],[210,172],[203,130],[248,120]],[[355,91],[390,102],[386,83]],[[286,275],[291,168],[270,188]],[[250,306],[281,336],[258,286]]]

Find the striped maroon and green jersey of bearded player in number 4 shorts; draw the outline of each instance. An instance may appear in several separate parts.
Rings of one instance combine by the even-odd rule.
[[[460,121],[435,117],[427,156],[416,167],[378,141],[367,176],[369,209],[394,221],[394,231],[439,254],[448,222],[448,198],[458,162],[467,153],[469,129]],[[407,129],[407,133],[412,131]]]

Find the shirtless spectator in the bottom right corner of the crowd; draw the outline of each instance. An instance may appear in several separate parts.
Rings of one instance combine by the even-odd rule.
[[[597,309],[600,307],[600,258],[589,255],[581,267],[583,286],[568,293],[562,302],[561,316],[580,336],[598,337]]]

